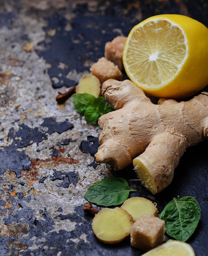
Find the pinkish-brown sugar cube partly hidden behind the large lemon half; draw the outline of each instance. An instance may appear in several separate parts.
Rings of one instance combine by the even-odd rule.
[[[124,70],[122,54],[126,36],[117,36],[111,42],[105,44],[105,57],[119,67],[119,70]]]

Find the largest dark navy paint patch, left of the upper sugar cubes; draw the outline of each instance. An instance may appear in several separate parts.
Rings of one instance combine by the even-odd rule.
[[[105,43],[116,36],[128,34],[128,26],[134,24],[129,20],[128,26],[124,26],[121,13],[103,16],[102,11],[97,10],[97,15],[93,15],[88,4],[84,9],[84,13],[79,12],[79,6],[75,10],[76,15],[70,20],[73,29],[66,29],[69,22],[58,13],[47,19],[48,26],[44,28],[46,40],[40,43],[43,50],[37,53],[51,64],[48,71],[53,88],[76,85],[82,75],[89,73],[91,65],[104,55]],[[93,16],[93,19],[89,19],[89,16]],[[111,33],[106,31],[108,29]],[[51,31],[55,33],[51,35]]]

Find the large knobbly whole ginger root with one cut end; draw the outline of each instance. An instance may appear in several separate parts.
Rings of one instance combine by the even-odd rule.
[[[170,184],[180,157],[208,137],[208,92],[189,101],[160,99],[153,104],[129,80],[109,79],[102,94],[116,110],[100,117],[97,162],[115,170],[132,163],[153,194]]]

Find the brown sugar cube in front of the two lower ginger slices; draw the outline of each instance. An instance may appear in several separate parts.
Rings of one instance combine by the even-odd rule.
[[[165,222],[155,216],[144,214],[131,228],[131,246],[149,251],[165,240]]]

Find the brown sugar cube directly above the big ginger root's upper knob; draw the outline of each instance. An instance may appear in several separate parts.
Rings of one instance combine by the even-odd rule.
[[[94,76],[97,76],[101,84],[111,78],[119,81],[122,80],[122,72],[119,70],[118,66],[104,57],[94,63],[90,71]]]

